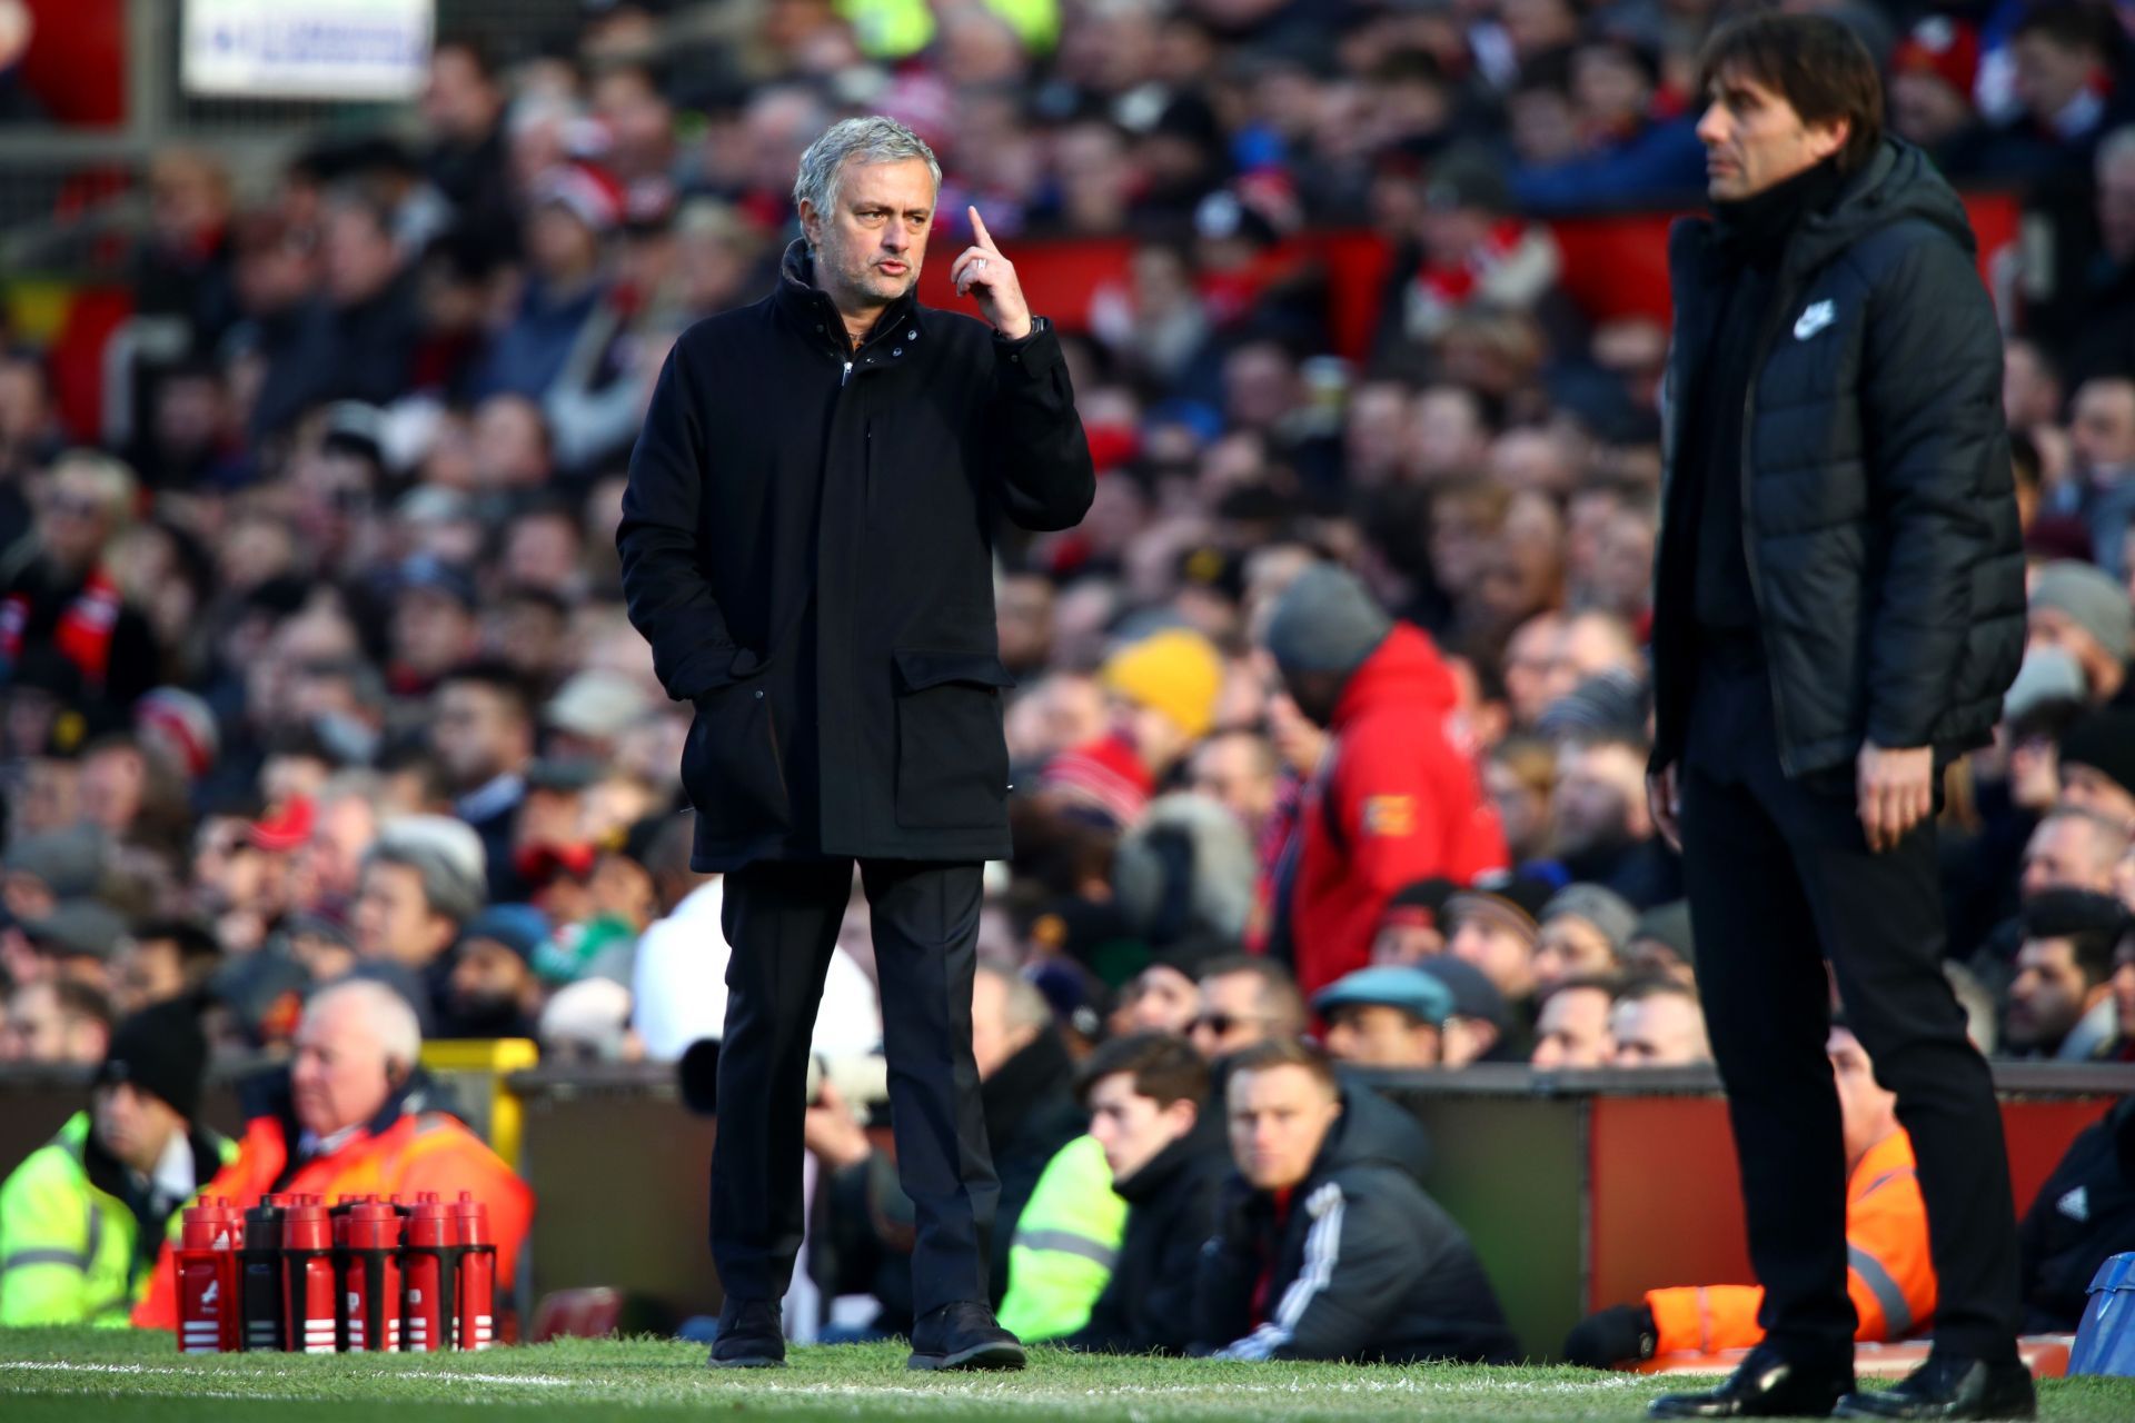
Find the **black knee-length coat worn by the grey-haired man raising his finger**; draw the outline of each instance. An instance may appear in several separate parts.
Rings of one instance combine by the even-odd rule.
[[[698,870],[999,860],[993,533],[1095,493],[1059,339],[903,299],[854,352],[801,243],[777,290],[675,343],[630,461],[630,621],[696,702]]]

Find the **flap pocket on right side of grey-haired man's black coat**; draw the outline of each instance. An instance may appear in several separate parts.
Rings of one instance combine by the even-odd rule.
[[[1001,689],[993,653],[892,653],[897,659],[897,824],[984,830],[1008,802]]]

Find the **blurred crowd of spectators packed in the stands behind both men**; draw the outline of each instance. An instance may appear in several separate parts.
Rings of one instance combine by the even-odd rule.
[[[2135,1060],[2135,17],[1798,9],[1860,28],[1896,134],[2030,215],[1990,273],[2030,646],[1996,745],[1947,772],[1949,973],[1990,1054]],[[549,1058],[717,1035],[690,710],[623,617],[615,525],[673,337],[769,290],[801,149],[867,111],[942,156],[942,243],[965,203],[1010,254],[1134,243],[1123,284],[1050,314],[1095,506],[1003,542],[995,587],[1016,853],[989,868],[974,1022],[1003,1220],[1046,1210],[1093,1118],[1085,1171],[1164,1161],[1206,1205],[1172,1148],[1223,1152],[1213,1120],[1106,1139],[1123,1097],[1200,1097],[1161,1043],[1272,1052],[1262,1080],[1351,1122],[1354,1086],[1268,1045],[1710,1058],[1712,945],[1644,789],[1667,333],[1582,311],[1546,218],[1699,201],[1687,85],[1719,6],[598,13],[547,51],[446,38],[406,128],[273,175],[158,154],[132,301],[179,339],[107,390],[124,439],[62,425],[45,350],[0,350],[0,1060],[94,1065],[169,1001],[205,1005],[216,1052],[286,1052],[348,977],[425,1037]],[[1394,254],[1362,358],[1287,241],[1337,226]],[[877,1039],[856,894],[816,1045]],[[1112,1071],[1078,1077],[1093,1050]],[[835,1084],[811,1109],[811,1259],[895,1327],[907,1225],[860,1118]],[[1407,1201],[1330,1152],[1313,1180],[1354,1165]],[[1001,1233],[997,1286],[1031,1240]],[[1091,1316],[1102,1286],[1059,1333],[1187,1342],[1142,1299]],[[1204,1342],[1294,1350],[1296,1323]],[[1388,1327],[1392,1355],[1505,1350]]]

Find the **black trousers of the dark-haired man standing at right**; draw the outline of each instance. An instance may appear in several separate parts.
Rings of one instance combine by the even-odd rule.
[[[1853,768],[1789,779],[1761,668],[1708,666],[1680,770],[1697,986],[1734,1122],[1766,1336],[1851,1361],[1847,1163],[1823,1056],[1830,981],[1898,1094],[1936,1274],[1939,1350],[2015,1359],[2009,1156],[1988,1065],[1943,977],[1934,826],[1870,853]]]

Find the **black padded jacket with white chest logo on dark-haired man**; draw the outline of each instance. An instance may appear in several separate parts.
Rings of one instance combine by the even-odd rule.
[[[1680,757],[1695,685],[1685,478],[1702,471],[1680,467],[1682,401],[1719,339],[1755,341],[1742,540],[1781,766],[1849,764],[1864,738],[1945,755],[1990,738],[2024,653],[2024,553],[2000,333],[1973,247],[1956,192],[1896,139],[1796,226],[1755,331],[1712,329],[1725,299],[1712,224],[1670,233],[1655,766]]]

